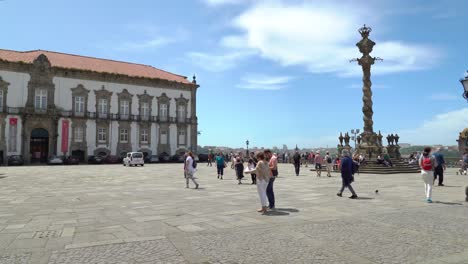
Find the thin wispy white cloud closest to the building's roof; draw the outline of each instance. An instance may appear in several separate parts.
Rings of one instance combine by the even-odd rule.
[[[187,57],[193,64],[211,71],[221,72],[234,68],[245,58],[252,55],[252,52],[232,52],[220,55],[211,55],[203,52],[189,52]]]

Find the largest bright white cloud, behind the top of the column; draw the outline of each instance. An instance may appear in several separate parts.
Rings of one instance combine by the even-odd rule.
[[[281,65],[303,65],[313,73],[360,75],[360,67],[349,60],[361,56],[355,46],[360,39],[357,28],[363,22],[378,26],[377,15],[368,16],[373,13],[377,14],[342,2],[339,5],[261,2],[234,20],[234,27],[242,33],[225,36],[221,45],[254,50]],[[384,61],[374,65],[375,74],[425,69],[440,57],[438,50],[428,45],[394,40],[376,42],[372,55]]]

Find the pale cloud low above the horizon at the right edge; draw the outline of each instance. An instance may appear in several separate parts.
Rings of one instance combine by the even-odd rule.
[[[398,134],[402,141],[412,144],[455,145],[455,140],[466,128],[466,124],[468,124],[468,107],[438,114],[418,127],[402,130]]]

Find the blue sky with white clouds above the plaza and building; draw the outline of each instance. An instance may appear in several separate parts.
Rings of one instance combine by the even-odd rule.
[[[374,130],[456,145],[468,127],[466,2],[3,0],[0,48],[143,63],[197,76],[199,145],[331,147],[362,131],[372,28]]]

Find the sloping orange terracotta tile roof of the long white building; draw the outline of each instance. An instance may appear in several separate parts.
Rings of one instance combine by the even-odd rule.
[[[185,76],[154,68],[149,65],[99,59],[80,55],[66,54],[47,50],[13,51],[0,49],[0,60],[10,62],[33,63],[40,55],[44,54],[54,67],[88,70],[103,73],[123,74],[131,77],[146,77],[163,79],[184,84],[192,84]]]

